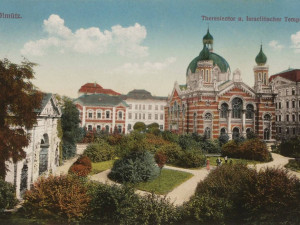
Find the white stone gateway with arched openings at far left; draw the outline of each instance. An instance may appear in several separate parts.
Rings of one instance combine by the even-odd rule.
[[[26,158],[16,164],[7,162],[9,172],[5,180],[15,185],[18,198],[30,189],[39,176],[54,172],[59,164],[57,121],[61,117],[61,110],[55,96],[44,94],[42,105],[36,113],[37,123],[28,131],[30,144],[25,149]]]

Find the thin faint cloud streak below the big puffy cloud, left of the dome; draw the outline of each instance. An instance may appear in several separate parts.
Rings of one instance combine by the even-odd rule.
[[[164,70],[171,64],[176,62],[175,57],[169,57],[163,62],[149,62],[146,61],[142,64],[139,63],[125,63],[119,68],[116,68],[115,73],[127,73],[127,74],[150,74]]]

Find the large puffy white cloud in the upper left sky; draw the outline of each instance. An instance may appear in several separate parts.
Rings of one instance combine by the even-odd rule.
[[[144,57],[148,55],[148,47],[141,43],[147,36],[144,26],[113,26],[111,31],[101,31],[98,27],[80,28],[75,32],[65,26],[65,21],[52,14],[44,20],[43,28],[48,38],[25,43],[21,53],[24,55],[41,56],[50,49],[58,52],[78,52],[84,54],[102,54],[117,52],[122,56]]]

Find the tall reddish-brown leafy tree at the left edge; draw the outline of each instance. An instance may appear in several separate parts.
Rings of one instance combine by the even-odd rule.
[[[35,109],[41,106],[42,93],[31,83],[34,63],[24,60],[20,65],[0,60],[0,177],[7,172],[5,161],[26,157],[30,130],[36,123]]]

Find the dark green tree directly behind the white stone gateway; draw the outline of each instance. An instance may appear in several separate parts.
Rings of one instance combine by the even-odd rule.
[[[76,153],[76,142],[82,139],[79,128],[79,111],[68,97],[63,97],[61,125],[63,129],[63,158],[68,159]]]

